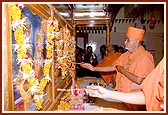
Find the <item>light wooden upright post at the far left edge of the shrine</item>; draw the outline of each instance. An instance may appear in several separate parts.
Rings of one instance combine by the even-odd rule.
[[[12,78],[12,38],[11,38],[11,14],[8,4],[3,6],[3,30],[2,33],[2,76],[3,78],[3,97],[4,111],[14,111],[14,96],[13,96],[13,78]]]

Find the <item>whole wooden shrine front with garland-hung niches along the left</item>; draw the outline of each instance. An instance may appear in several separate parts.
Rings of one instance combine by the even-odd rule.
[[[75,78],[75,38],[59,17],[44,18],[33,5],[9,5],[14,111],[51,110]],[[42,11],[41,11],[42,12]],[[53,12],[53,11],[51,11]],[[66,82],[66,85],[65,85]]]

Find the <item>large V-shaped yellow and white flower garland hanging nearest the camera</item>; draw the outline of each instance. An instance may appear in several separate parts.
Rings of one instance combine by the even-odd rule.
[[[27,44],[29,41],[26,41],[27,39],[24,38],[24,29],[26,28],[24,26],[25,18],[21,19],[22,8],[23,5],[19,4],[12,4],[10,6],[12,18],[11,28],[14,31],[14,38],[16,41],[14,51],[17,52],[17,61],[18,64],[20,64],[19,71],[22,75],[22,78],[28,82],[28,91],[31,91],[32,95],[34,95],[33,100],[36,103],[36,109],[40,110],[42,109],[44,88],[46,87],[49,80],[51,80],[49,77],[49,71],[52,60],[52,40],[51,38],[48,38],[47,40],[47,43],[50,45],[47,45],[46,47],[47,59],[44,62],[44,77],[39,83],[39,81],[35,78],[35,72],[33,70],[33,60],[31,56],[28,55],[28,49],[30,48],[30,44]],[[49,30],[53,31],[52,28]]]

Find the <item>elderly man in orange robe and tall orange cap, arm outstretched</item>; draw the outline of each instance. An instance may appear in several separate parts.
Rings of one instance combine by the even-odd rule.
[[[112,66],[105,67],[93,67],[91,64],[82,63],[81,66],[92,71],[115,71],[116,65],[123,66],[124,69],[131,74],[132,76],[138,76],[140,78],[145,78],[153,69],[154,69],[154,59],[150,52],[144,49],[141,45],[141,42],[144,38],[145,30],[128,27],[126,31],[125,39],[125,49],[128,51],[123,53]],[[136,92],[141,91],[142,88],[128,79],[128,76],[117,72],[116,76],[116,87],[115,89],[120,92]],[[125,105],[130,110],[144,110],[145,106],[127,104]]]

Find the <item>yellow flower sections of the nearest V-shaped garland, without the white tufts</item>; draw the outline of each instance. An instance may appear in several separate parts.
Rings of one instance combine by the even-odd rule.
[[[10,6],[10,12],[11,12],[11,18],[12,18],[12,24],[16,24],[16,22],[19,22],[21,20],[21,11],[22,9],[20,9],[18,7],[18,5],[16,4],[12,4]],[[12,27],[12,30],[14,31],[14,37],[15,37],[15,41],[16,44],[18,45],[17,48],[17,56],[18,58],[21,60],[21,71],[24,74],[28,74],[31,77],[26,78],[27,82],[28,82],[28,87],[29,89],[32,88],[32,86],[37,86],[37,79],[35,78],[35,76],[31,73],[32,71],[32,66],[31,66],[31,62],[29,61],[25,61],[28,60],[26,59],[26,53],[28,48],[24,47],[25,42],[24,42],[24,32],[23,32],[23,27],[22,26],[16,26],[16,27]],[[48,28],[49,32],[53,31],[53,28],[50,27]],[[53,44],[52,43],[52,38],[48,39],[48,43]],[[52,58],[52,48],[50,46],[47,47],[47,58]],[[29,57],[30,58],[30,57]],[[48,81],[50,80],[49,77],[49,70],[51,67],[51,63],[45,64],[46,66],[44,67],[44,78],[40,81],[40,84],[37,86],[38,90],[36,90],[36,92],[34,94],[36,94],[36,98],[34,99],[35,103],[36,103],[36,109],[40,110],[42,109],[42,103],[43,103],[43,99],[41,98],[41,96],[43,96],[43,91],[44,88],[46,87]]]

